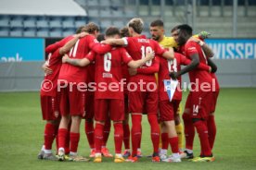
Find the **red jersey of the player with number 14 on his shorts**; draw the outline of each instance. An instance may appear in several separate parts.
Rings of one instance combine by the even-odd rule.
[[[200,45],[197,42],[192,42],[192,41],[186,42],[184,46],[184,52],[188,59],[191,59],[190,58],[191,55],[198,54],[199,62],[207,65],[207,57],[206,55],[204,55]],[[198,79],[199,84],[203,82],[208,82],[210,85],[212,85],[211,74],[207,70],[201,70],[201,69],[195,68],[189,71],[188,74],[189,74],[190,82],[196,82],[196,79]]]

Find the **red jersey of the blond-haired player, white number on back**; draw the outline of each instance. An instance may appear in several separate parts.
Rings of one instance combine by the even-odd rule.
[[[138,37],[125,37],[123,38],[123,40],[125,41],[125,45],[126,46],[126,50],[127,52],[133,57],[134,60],[139,60],[142,59],[143,57],[145,57],[146,52],[155,52],[155,55],[162,55],[165,50],[163,48],[160,47],[159,43],[151,40],[151,39],[147,39],[144,35],[138,36]],[[158,68],[159,67],[159,63],[158,63],[158,59],[153,59],[150,61],[147,61],[147,63],[145,65],[143,65],[142,67],[140,67],[141,69],[144,68]],[[141,72],[138,68],[138,74],[136,74],[135,76],[131,76],[130,81],[138,81],[139,79],[144,79],[147,81],[156,81],[155,79],[155,75],[154,73],[158,72],[158,69],[155,69],[157,71],[153,72],[152,74],[144,74],[143,71]]]

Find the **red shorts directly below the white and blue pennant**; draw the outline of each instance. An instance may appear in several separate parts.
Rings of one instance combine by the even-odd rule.
[[[160,121],[174,120],[174,114],[179,108],[181,101],[173,100],[171,103],[167,101],[160,101]]]

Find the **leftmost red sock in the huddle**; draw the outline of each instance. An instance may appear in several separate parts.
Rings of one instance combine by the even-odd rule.
[[[51,150],[56,137],[55,125],[46,123],[45,125],[45,150]]]

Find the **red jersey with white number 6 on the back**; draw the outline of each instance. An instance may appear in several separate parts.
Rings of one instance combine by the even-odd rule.
[[[96,61],[96,99],[122,99],[122,63],[128,64],[132,57],[124,48],[112,48],[105,55],[91,52],[86,56]],[[111,88],[111,89],[110,89]]]

